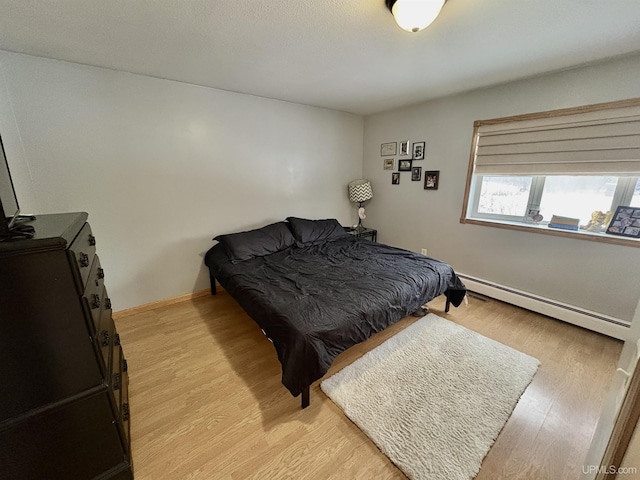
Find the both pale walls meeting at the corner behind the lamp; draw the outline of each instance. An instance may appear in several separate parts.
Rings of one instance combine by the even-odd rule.
[[[87,211],[117,310],[207,287],[219,233],[288,215],[355,221],[456,270],[630,320],[640,249],[459,223],[474,120],[640,97],[640,56],[366,117],[0,51],[0,133],[23,210]],[[427,141],[391,185],[380,143]],[[364,161],[362,160],[364,158]]]

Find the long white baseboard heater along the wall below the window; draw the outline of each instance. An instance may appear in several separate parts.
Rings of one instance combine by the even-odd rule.
[[[631,322],[459,273],[467,289],[579,327],[626,340]]]

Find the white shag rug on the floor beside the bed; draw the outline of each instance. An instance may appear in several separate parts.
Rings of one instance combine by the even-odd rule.
[[[540,362],[433,313],[321,383],[413,480],[468,480]]]

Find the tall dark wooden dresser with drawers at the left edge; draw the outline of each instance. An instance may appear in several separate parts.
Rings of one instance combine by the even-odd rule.
[[[0,478],[133,479],[127,362],[86,213],[0,242]]]

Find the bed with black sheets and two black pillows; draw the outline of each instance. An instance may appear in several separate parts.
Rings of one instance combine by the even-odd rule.
[[[464,284],[444,262],[356,238],[337,220],[289,217],[214,238],[205,255],[216,279],[273,342],[282,383],[309,405],[309,386],[347,348]]]

